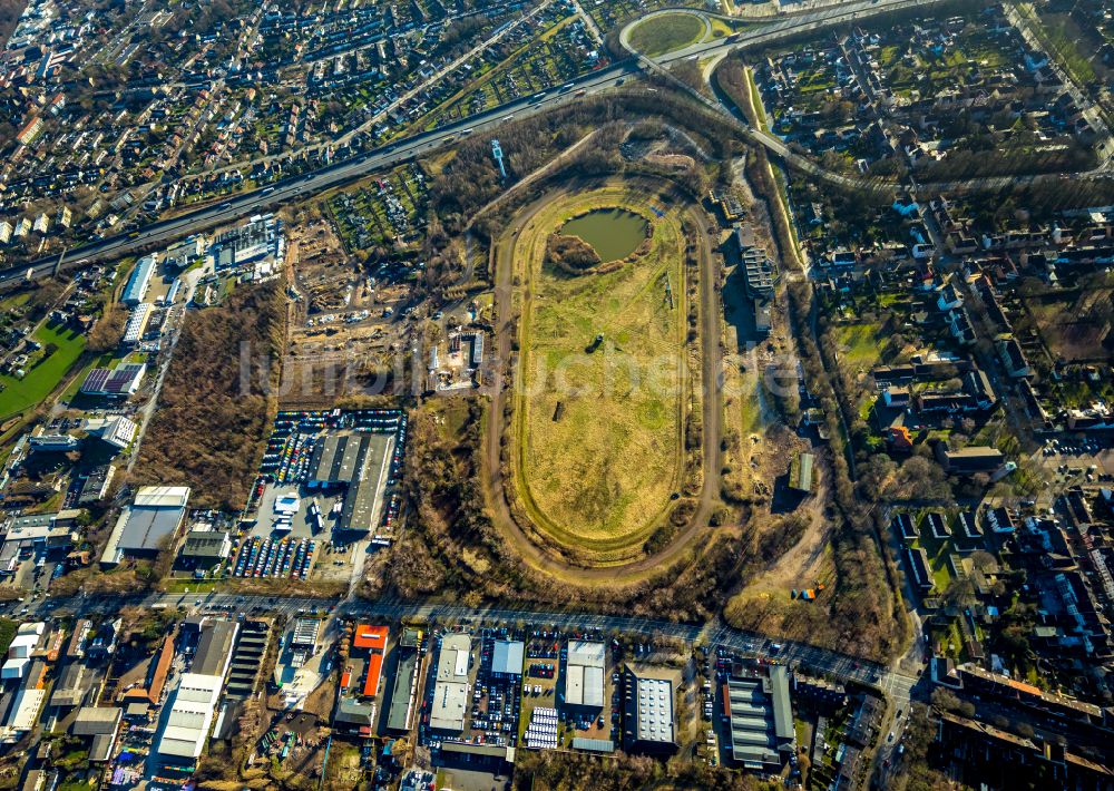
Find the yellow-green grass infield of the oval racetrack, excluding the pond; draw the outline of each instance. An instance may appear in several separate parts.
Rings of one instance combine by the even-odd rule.
[[[518,489],[540,529],[598,559],[641,548],[680,488],[691,387],[684,241],[675,212],[652,208],[662,206],[626,186],[558,197],[515,248],[524,302]],[[652,223],[645,255],[576,276],[544,263],[547,237],[566,219],[616,207]]]

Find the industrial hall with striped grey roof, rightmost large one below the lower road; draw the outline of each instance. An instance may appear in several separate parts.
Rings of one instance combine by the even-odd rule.
[[[754,771],[781,771],[797,750],[789,670],[772,665],[769,675],[727,680],[723,707],[733,760]]]

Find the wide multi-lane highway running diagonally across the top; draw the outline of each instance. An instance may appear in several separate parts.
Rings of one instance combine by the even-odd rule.
[[[733,49],[764,46],[780,39],[813,32],[818,29],[860,19],[867,16],[890,12],[917,6],[927,6],[939,0],[862,0],[795,17],[785,17],[753,30],[743,31],[729,39],[716,39],[672,52],[654,62],[670,65],[685,59],[716,56]],[[647,14],[649,16],[649,14]],[[629,26],[628,28],[629,29]],[[192,233],[216,225],[234,222],[282,204],[306,197],[311,193],[346,184],[377,170],[389,169],[400,163],[455,143],[461,138],[490,131],[517,117],[534,115],[576,101],[602,90],[622,85],[631,76],[641,74],[637,60],[624,61],[609,68],[592,72],[573,82],[571,87],[553,88],[543,99],[524,97],[500,105],[486,113],[477,114],[462,121],[432,131],[413,135],[388,146],[368,152],[361,156],[319,168],[309,174],[291,176],[273,185],[228,196],[225,201],[208,204],[176,217],[152,223],[137,231],[108,236],[90,244],[66,251],[61,268],[80,266],[95,261],[116,258],[131,253],[165,245]],[[772,135],[760,135],[759,141],[776,154],[790,154],[785,145]],[[815,167],[814,165],[812,166]],[[39,258],[28,264],[0,270],[0,285],[19,280],[33,280],[49,275],[58,265],[58,255]]]

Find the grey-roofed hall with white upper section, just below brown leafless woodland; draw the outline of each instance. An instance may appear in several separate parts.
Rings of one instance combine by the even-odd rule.
[[[169,548],[186,518],[187,486],[145,486],[124,509],[108,537],[100,563],[116,565],[128,557],[154,557]]]

